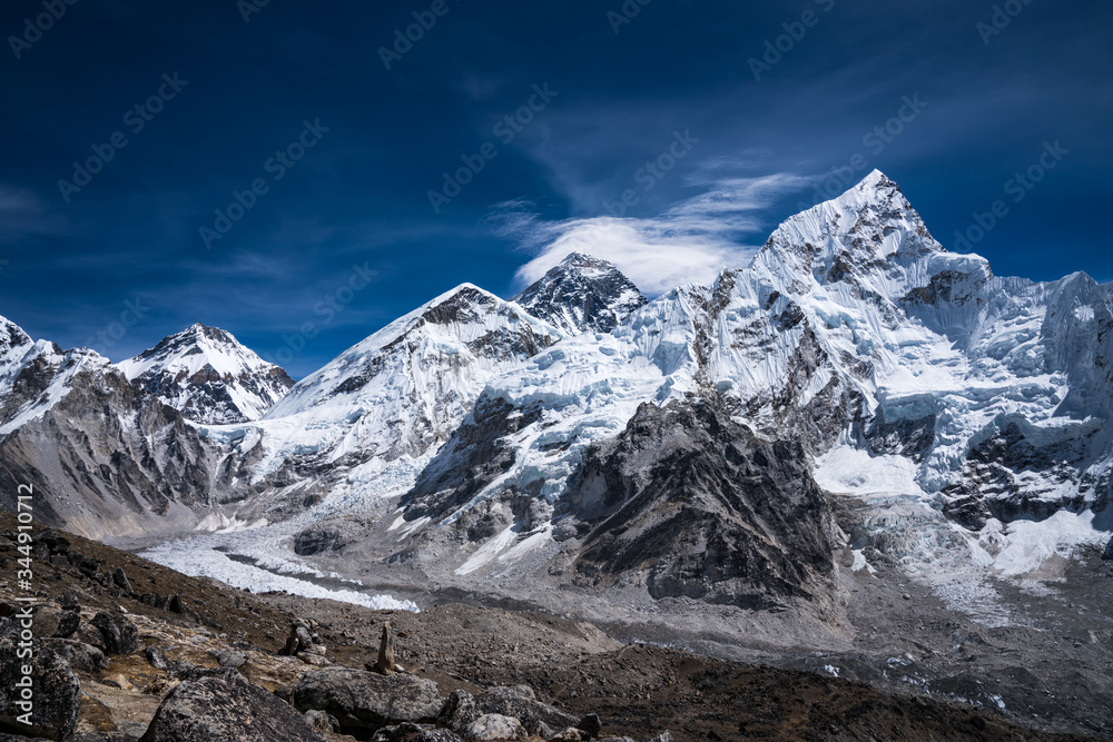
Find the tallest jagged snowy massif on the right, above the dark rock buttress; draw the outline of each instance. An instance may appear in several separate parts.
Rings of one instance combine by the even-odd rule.
[[[894,503],[914,503],[908,527],[879,531],[876,543],[917,574],[942,578],[959,562],[1017,574],[1008,534],[1018,520],[1046,522],[1044,556],[1113,527],[1101,515],[1113,499],[1110,295],[1082,275],[994,277],[985,259],[944,249],[875,171],[786,221],[748,268],[492,379],[486,413],[431,463],[406,518],[501,511],[520,535],[476,552],[465,572],[512,570],[504,555],[553,532],[539,512],[562,512],[585,453],[619,435],[640,404],[716,396],[762,437],[802,442],[827,487],[884,494],[874,527],[899,522],[885,515]],[[469,441],[484,442],[500,466],[469,461]],[[876,493],[868,473],[878,466],[906,474]],[[523,509],[521,493],[545,506]],[[1075,513],[1089,525],[1064,532],[1052,518]]]

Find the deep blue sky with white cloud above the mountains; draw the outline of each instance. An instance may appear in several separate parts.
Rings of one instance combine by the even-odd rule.
[[[1107,2],[260,1],[4,3],[0,314],[114,360],[204,321],[301,377],[561,250],[702,280],[875,167],[948,248],[1003,201],[999,275],[1113,280]]]

